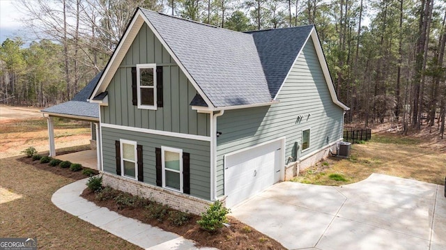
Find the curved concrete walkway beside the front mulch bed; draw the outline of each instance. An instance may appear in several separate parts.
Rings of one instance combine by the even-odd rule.
[[[136,219],[123,217],[121,214],[100,208],[95,203],[79,196],[86,188],[86,179],[72,182],[57,190],[51,201],[64,210],[98,228],[127,240],[143,249],[198,249],[192,240],[187,240],[175,233],[141,223]],[[210,248],[201,248],[210,249]]]

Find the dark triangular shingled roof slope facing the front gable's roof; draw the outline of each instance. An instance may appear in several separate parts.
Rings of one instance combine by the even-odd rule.
[[[275,97],[314,25],[251,31],[271,97]]]

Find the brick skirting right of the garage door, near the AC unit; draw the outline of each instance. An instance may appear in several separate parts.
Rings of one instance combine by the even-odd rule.
[[[302,159],[297,162],[291,162],[285,166],[285,180],[291,180],[293,177],[297,176],[300,171],[307,169],[310,166],[320,162],[322,159],[326,159],[330,152],[330,148],[332,152],[336,152],[337,142],[332,143],[331,145],[309,155],[305,159]]]

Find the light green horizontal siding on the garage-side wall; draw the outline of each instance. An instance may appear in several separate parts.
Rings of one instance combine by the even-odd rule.
[[[286,136],[285,159],[295,157],[295,142],[311,129],[310,148],[300,157],[342,137],[343,109],[332,102],[311,39],[308,40],[271,107],[225,111],[217,118],[217,196],[224,194],[224,155]],[[308,116],[311,114],[311,116]],[[298,121],[298,116],[304,116]]]

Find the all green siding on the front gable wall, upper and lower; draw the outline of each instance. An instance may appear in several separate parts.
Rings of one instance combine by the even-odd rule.
[[[132,105],[132,67],[139,63],[162,66],[163,107]],[[210,135],[209,114],[197,114],[190,102],[197,91],[153,32],[144,24],[132,42],[108,88],[109,106],[101,107],[101,123],[141,127],[200,136]],[[156,185],[155,148],[168,146],[190,153],[190,194],[210,199],[210,142],[102,127],[104,171],[116,173],[114,141],[126,139],[143,146],[144,182]]]

